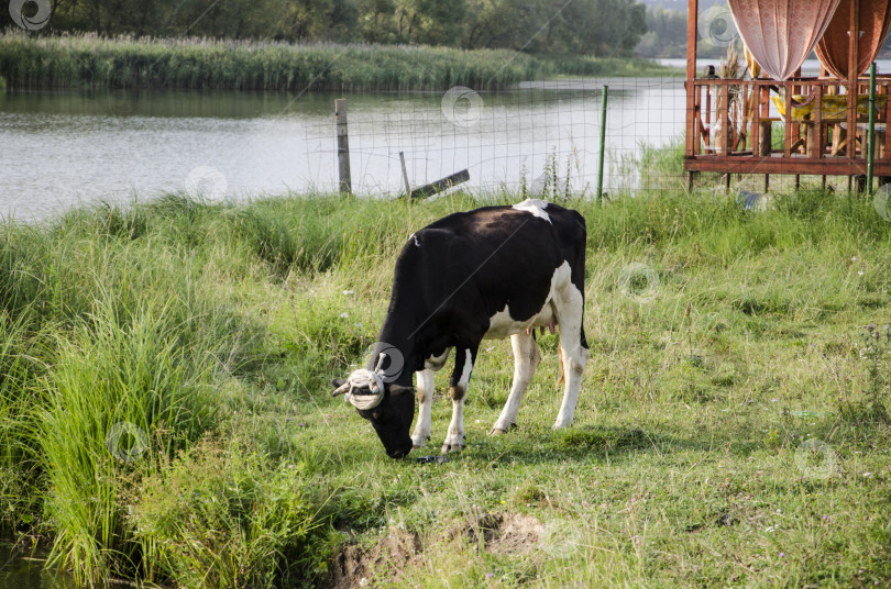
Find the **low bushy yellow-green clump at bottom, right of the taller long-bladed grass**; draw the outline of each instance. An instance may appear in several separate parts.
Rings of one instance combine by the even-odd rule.
[[[205,440],[146,478],[132,520],[146,566],[177,587],[292,587],[329,556],[300,464]]]

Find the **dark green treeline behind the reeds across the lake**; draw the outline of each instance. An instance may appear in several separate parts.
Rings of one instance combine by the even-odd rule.
[[[198,36],[629,55],[647,32],[635,0],[44,0],[40,34]],[[28,2],[24,10],[34,11]],[[12,25],[0,11],[0,27]]]

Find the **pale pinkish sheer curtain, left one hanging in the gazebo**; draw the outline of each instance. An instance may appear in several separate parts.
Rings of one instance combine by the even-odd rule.
[[[728,0],[743,41],[765,74],[792,77],[828,26],[839,0]]]

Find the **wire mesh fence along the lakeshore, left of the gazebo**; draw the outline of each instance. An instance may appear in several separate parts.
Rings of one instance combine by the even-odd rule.
[[[604,87],[604,190],[636,192],[680,181],[676,166],[641,170],[641,164],[658,165],[652,149],[680,145],[682,80],[612,78],[527,82],[501,92],[458,87],[374,100],[346,97],[353,192],[405,193],[402,153],[413,189],[468,170],[464,186],[475,190],[593,196],[601,175]],[[333,119],[308,121],[301,143],[306,186],[336,191]]]

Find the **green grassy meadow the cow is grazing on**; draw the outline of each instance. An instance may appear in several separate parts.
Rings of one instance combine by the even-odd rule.
[[[520,195],[168,195],[0,229],[0,527],[84,585],[887,587],[891,224],[868,199],[749,212],[572,202],[592,357],[552,431],[557,338],[518,429],[484,343],[405,460],[328,382],[375,341],[408,236]],[[449,363],[451,364],[451,363]],[[448,369],[448,367],[447,367]],[[0,573],[2,575],[2,573]]]

